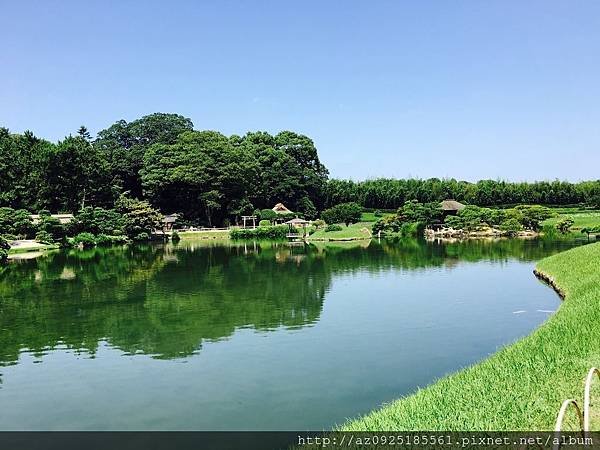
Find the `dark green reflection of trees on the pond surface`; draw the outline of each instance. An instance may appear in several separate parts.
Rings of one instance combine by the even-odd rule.
[[[93,354],[173,358],[238,328],[296,328],[319,319],[333,276],[413,270],[456,261],[533,261],[572,243],[504,240],[452,244],[400,240],[137,246],[68,251],[12,263],[0,274],[0,362],[64,345]]]

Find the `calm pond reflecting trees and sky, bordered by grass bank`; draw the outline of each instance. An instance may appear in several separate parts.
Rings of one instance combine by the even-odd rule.
[[[4,430],[322,430],[531,332],[577,245],[182,241],[0,274]]]

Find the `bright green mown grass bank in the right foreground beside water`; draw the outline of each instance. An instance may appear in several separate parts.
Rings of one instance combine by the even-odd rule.
[[[561,402],[581,402],[587,371],[600,365],[600,244],[551,256],[537,269],[565,295],[544,325],[489,359],[343,428],[552,429]],[[594,391],[598,399],[600,389]],[[592,427],[600,429],[595,414]]]

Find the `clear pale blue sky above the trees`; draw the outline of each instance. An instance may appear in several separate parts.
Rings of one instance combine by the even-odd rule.
[[[598,1],[0,0],[0,125],[177,112],[334,177],[596,179]]]

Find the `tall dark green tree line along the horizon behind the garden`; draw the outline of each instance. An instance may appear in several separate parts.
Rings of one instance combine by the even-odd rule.
[[[454,179],[329,179],[314,142],[292,131],[225,136],[156,113],[119,120],[92,138],[85,127],[53,143],[0,128],[0,207],[76,213],[114,209],[123,195],[203,225],[227,225],[283,202],[313,219],[357,203],[397,209],[407,201],[600,206],[600,181],[510,183]]]

